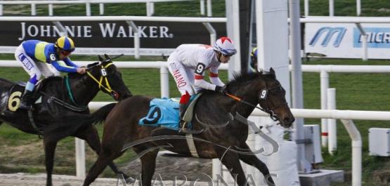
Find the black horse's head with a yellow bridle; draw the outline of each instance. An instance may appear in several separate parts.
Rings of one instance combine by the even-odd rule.
[[[132,96],[129,88],[124,84],[122,73],[112,62],[112,59],[120,56],[122,55],[110,58],[105,54],[105,59],[103,59],[98,55],[99,62],[88,65],[87,69],[89,74],[92,74],[95,81],[98,82],[100,90],[112,95],[115,100],[124,100]]]

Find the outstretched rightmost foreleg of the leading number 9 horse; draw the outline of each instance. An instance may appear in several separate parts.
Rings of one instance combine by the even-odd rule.
[[[245,145],[242,145],[240,148],[249,150],[249,146],[247,143]],[[238,154],[238,157],[241,161],[244,161],[245,164],[248,164],[250,166],[254,166],[264,175],[264,178],[266,178],[266,183],[268,186],[274,186],[275,182],[273,182],[273,179],[271,177],[271,174],[268,171],[268,167],[266,164],[264,164],[263,161],[261,161],[259,158],[256,157],[255,154],[253,155],[247,155],[247,154]]]

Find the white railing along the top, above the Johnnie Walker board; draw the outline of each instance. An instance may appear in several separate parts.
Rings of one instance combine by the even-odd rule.
[[[91,4],[99,4],[100,15],[104,14],[104,4],[146,3],[146,15],[151,16],[155,11],[155,3],[169,1],[194,1],[194,0],[79,0],[79,1],[0,1],[0,15],[3,15],[4,4],[30,4],[31,15],[37,15],[36,5],[47,4],[48,15],[53,15],[53,4],[85,4],[86,15],[91,15]],[[200,14],[204,15],[204,0],[200,0]],[[212,16],[212,2],[207,0],[207,16]]]

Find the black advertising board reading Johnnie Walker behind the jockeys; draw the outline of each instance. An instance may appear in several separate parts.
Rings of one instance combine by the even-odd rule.
[[[202,22],[134,21],[140,36],[141,55],[169,55],[181,44],[210,44]],[[75,54],[124,53],[134,55],[134,32],[125,21],[61,22],[73,39]],[[226,23],[211,23],[217,38],[226,36]],[[22,41],[56,42],[60,30],[50,21],[0,22],[0,53],[13,53]]]

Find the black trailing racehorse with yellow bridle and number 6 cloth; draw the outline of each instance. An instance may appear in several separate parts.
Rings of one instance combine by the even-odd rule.
[[[5,122],[20,131],[41,137],[47,134],[44,128],[53,125],[53,121],[60,117],[90,114],[88,104],[100,90],[112,95],[115,100],[131,97],[132,94],[124,84],[121,72],[112,62],[114,58],[110,59],[105,55],[106,59],[103,60],[100,55],[98,57],[100,62],[88,65],[85,74],[69,73],[63,78],[48,77],[37,84],[34,98],[39,99],[34,104],[34,111],[18,109],[20,96],[25,89],[23,86],[7,79],[0,79],[0,124]],[[78,128],[77,131],[66,135],[85,140],[97,154],[100,153],[100,139],[95,126]],[[52,185],[51,175],[57,142],[58,140],[44,138],[46,185]],[[112,162],[110,167],[115,173],[122,173]],[[124,176],[129,178],[127,175]]]

